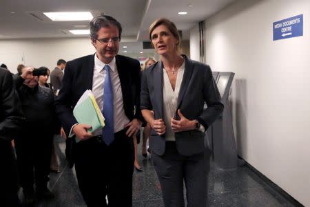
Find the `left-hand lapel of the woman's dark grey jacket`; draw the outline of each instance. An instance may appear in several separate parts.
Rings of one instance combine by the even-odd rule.
[[[155,103],[158,107],[158,117],[156,119],[163,118],[163,62],[158,61],[157,66],[154,68],[154,94]]]

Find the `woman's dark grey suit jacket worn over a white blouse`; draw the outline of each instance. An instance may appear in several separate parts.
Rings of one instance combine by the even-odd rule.
[[[185,58],[185,72],[178,95],[180,112],[187,119],[197,119],[205,129],[220,116],[224,105],[212,77],[211,68],[198,61]],[[204,109],[204,104],[207,108]],[[163,119],[163,63],[158,61],[143,71],[141,80],[141,110],[154,111],[155,119]],[[175,113],[176,119],[180,119]],[[203,152],[205,133],[199,130],[176,132],[176,147],[181,155]],[[165,135],[159,136],[154,130],[149,137],[149,146],[157,155],[165,152]]]

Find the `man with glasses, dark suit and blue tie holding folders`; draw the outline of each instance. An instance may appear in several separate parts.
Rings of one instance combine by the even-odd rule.
[[[141,126],[140,64],[117,55],[121,23],[101,14],[90,21],[94,55],[68,61],[56,111],[68,139],[75,144],[74,163],[87,206],[132,206],[134,135]],[[93,133],[78,123],[72,108],[91,89],[105,117],[105,127]],[[72,137],[72,135],[74,135]]]

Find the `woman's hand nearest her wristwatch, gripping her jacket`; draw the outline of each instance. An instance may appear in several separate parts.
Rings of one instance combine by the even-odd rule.
[[[178,109],[178,115],[180,116],[180,120],[176,120],[171,118],[171,128],[174,132],[183,132],[188,130],[194,130],[196,128],[196,122],[194,120],[189,120],[183,116]]]

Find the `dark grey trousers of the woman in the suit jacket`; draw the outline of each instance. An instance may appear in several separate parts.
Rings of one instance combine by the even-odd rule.
[[[185,206],[183,181],[188,207],[207,207],[207,176],[209,152],[184,156],[178,153],[174,141],[166,142],[162,156],[153,153],[154,167],[161,183],[165,207]]]

